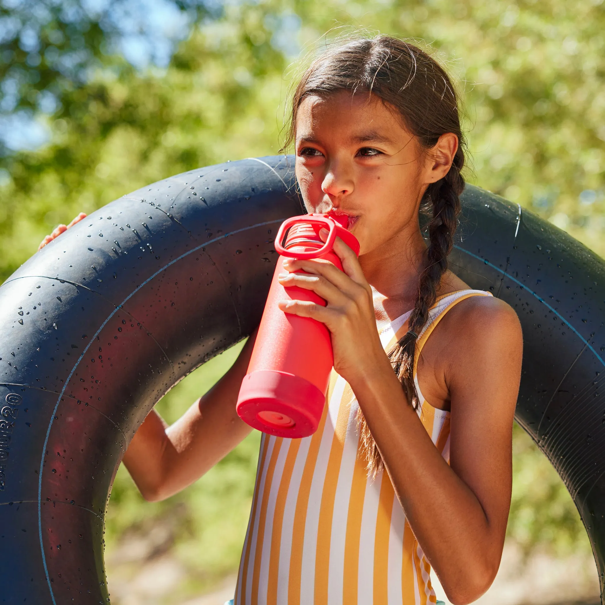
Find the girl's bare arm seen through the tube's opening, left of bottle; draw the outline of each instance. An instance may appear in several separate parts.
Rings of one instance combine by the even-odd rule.
[[[252,430],[235,412],[256,331],[234,365],[173,425],[152,410],[123,462],[146,500],[164,500],[186,488],[226,456]]]

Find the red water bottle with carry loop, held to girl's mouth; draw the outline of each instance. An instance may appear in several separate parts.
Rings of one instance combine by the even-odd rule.
[[[325,258],[342,270],[332,250],[336,236],[359,254],[359,242],[347,231],[347,220],[346,215],[331,214],[292,217],[275,238],[280,258],[237,399],[238,416],[263,433],[295,438],[317,430],[334,365],[330,332],[316,319],[284,313],[277,302],[298,299],[325,306],[325,301],[311,290],[284,288],[277,276],[284,270],[284,257]],[[319,237],[322,227],[329,229],[325,243]]]

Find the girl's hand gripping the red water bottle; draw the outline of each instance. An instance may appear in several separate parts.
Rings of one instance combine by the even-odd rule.
[[[327,229],[319,231],[322,240],[325,241],[327,235]],[[340,258],[344,272],[327,260],[289,258],[284,261],[287,273],[279,275],[282,286],[313,290],[327,305],[289,300],[280,301],[278,306],[286,313],[310,317],[325,324],[332,335],[334,368],[353,385],[364,376],[375,374],[382,366],[391,366],[378,336],[372,291],[359,260],[339,237],[333,250]]]

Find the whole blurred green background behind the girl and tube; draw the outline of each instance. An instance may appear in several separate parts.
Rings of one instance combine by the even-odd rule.
[[[604,255],[603,0],[0,0],[0,282],[80,211],[275,154],[301,57],[360,29],[426,42],[457,79],[469,182]],[[236,355],[190,374],[160,414],[174,422]],[[258,443],[160,503],[120,468],[106,518],[115,605],[231,598]],[[575,506],[518,427],[503,563],[480,602],[600,602]]]

